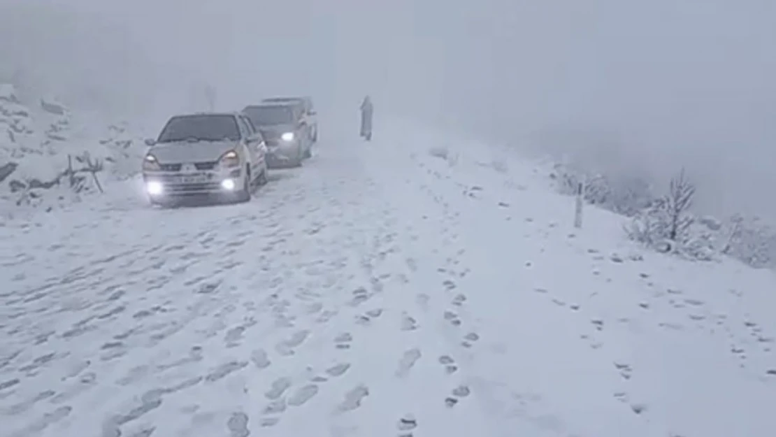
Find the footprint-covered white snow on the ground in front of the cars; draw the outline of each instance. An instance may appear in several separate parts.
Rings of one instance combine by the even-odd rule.
[[[0,227],[0,435],[774,435],[770,272],[574,230],[480,144],[335,129],[251,203],[127,182]]]

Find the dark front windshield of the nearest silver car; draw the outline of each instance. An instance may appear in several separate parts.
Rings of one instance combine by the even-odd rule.
[[[175,116],[167,122],[161,134],[159,143],[173,141],[201,140],[239,140],[240,129],[234,116],[203,114],[196,116]]]

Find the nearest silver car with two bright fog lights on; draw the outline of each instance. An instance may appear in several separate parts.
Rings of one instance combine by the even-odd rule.
[[[267,182],[267,146],[241,113],[173,116],[143,159],[151,203],[170,205],[186,196],[247,202]]]

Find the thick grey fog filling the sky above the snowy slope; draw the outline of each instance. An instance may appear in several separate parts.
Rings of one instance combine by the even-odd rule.
[[[164,118],[268,94],[665,181],[776,220],[772,0],[0,0],[0,80]],[[408,139],[410,140],[410,139]]]

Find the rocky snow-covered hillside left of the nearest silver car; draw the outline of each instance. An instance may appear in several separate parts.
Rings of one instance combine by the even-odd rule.
[[[0,215],[68,204],[126,179],[139,170],[141,145],[126,124],[51,99],[25,102],[0,84]]]

